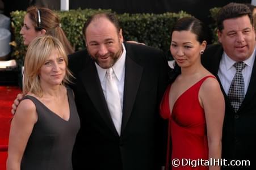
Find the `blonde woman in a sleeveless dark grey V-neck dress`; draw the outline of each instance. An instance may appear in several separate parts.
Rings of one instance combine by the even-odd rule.
[[[80,123],[61,42],[39,36],[24,62],[24,97],[11,122],[7,170],[72,169]]]

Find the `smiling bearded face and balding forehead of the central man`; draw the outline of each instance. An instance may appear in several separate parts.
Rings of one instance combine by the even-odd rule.
[[[123,52],[123,36],[107,18],[93,20],[85,31],[88,53],[103,69],[112,67]]]

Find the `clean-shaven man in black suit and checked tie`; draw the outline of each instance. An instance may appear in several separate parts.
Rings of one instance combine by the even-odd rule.
[[[255,169],[256,64],[255,33],[250,9],[243,4],[229,3],[218,14],[217,27],[221,44],[208,46],[202,63],[219,79],[225,96],[222,158],[250,160],[250,166],[244,163],[244,166],[223,166],[223,169]],[[236,63],[244,65],[240,73]],[[242,97],[236,96],[237,92],[232,97],[234,77],[240,75],[241,78],[241,73],[244,83],[240,86],[243,90],[239,95]],[[241,83],[241,80],[236,82]]]

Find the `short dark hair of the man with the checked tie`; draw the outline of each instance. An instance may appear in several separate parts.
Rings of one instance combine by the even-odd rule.
[[[217,28],[220,32],[223,31],[223,22],[226,19],[238,18],[247,15],[250,19],[251,25],[253,25],[253,16],[251,10],[245,4],[242,3],[229,3],[228,5],[222,7],[217,14]]]

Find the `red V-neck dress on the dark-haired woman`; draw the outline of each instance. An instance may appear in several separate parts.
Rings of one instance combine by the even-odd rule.
[[[171,84],[167,87],[160,105],[161,116],[169,119],[166,169],[169,167],[172,169],[209,169],[207,165],[199,166],[198,162],[195,163],[195,160],[208,160],[205,115],[204,109],[199,103],[198,95],[202,83],[209,77],[215,78],[214,76],[205,76],[184,91],[175,101],[172,113],[170,113],[169,106]],[[172,146],[171,154],[170,144]],[[170,161],[169,155],[171,155]],[[175,159],[179,160],[180,165],[178,167],[172,165],[172,161]],[[190,165],[188,165],[189,159],[194,160],[194,162],[190,162]],[[187,165],[183,166],[182,162],[183,165]],[[178,164],[177,161],[174,163]]]

